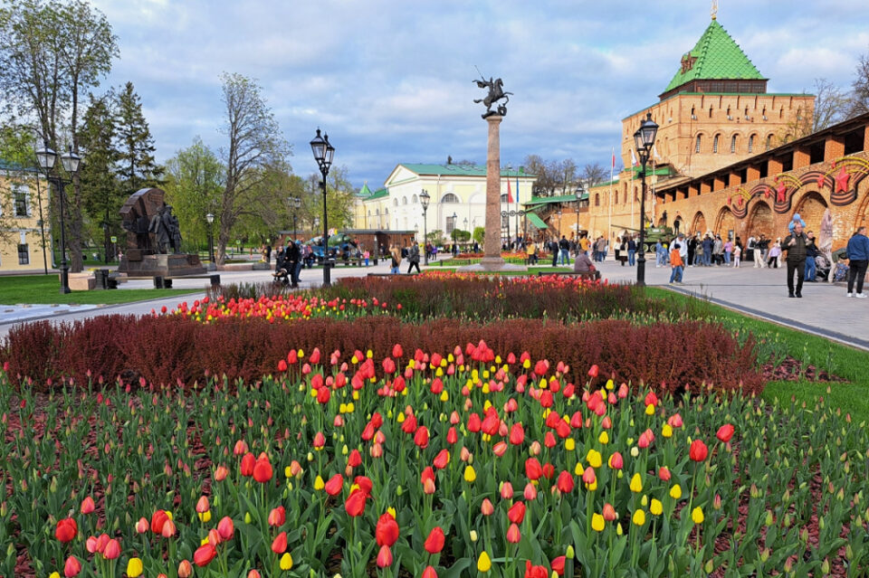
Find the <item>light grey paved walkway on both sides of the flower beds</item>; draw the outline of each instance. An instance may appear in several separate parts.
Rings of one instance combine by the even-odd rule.
[[[406,263],[402,271],[406,270]],[[438,269],[435,267],[435,270]],[[339,266],[332,270],[332,279],[358,277],[368,273],[387,273],[388,265],[358,268]],[[622,267],[616,261],[600,264],[602,276],[610,282],[634,282],[636,269]],[[708,298],[727,308],[739,310],[754,317],[762,317],[788,327],[826,336],[836,341],[869,350],[869,298],[845,297],[845,288],[829,283],[806,283],[803,298],[788,298],[784,269],[755,269],[752,263],[740,269],[727,267],[689,267],[685,270],[681,286],[668,285],[670,268],[654,266],[654,259],[646,261],[646,284],[660,286],[697,297]],[[271,272],[221,271],[221,280],[227,283],[252,283],[271,280]],[[319,286],[322,270],[302,270],[302,287]],[[151,280],[131,280],[121,284],[122,289],[148,289]],[[203,280],[175,280],[175,289],[203,289],[201,294],[187,297],[158,298],[123,305],[110,306],[2,306],[0,305],[0,338],[4,337],[15,323],[38,318],[54,321],[72,321],[108,314],[143,315],[152,308],[159,310],[164,305],[174,308],[181,301],[192,302],[205,295]],[[866,289],[869,291],[869,288]]]

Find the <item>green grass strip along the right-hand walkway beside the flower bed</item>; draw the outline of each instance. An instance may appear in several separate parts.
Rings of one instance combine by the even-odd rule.
[[[807,379],[799,381],[774,381],[767,384],[763,392],[769,401],[778,398],[788,401],[795,396],[797,401],[805,402],[809,408],[815,406],[818,396],[824,396],[830,403],[850,412],[856,422],[869,422],[869,352],[844,346],[825,337],[783,327],[755,317],[748,317],[731,309],[675,293],[667,289],[646,288],[654,297],[672,299],[683,305],[691,317],[702,317],[720,321],[725,327],[741,334],[752,332],[759,339],[767,340],[776,355],[790,355],[803,365],[815,365],[847,380],[847,383],[820,383]],[[768,347],[761,347],[766,351]],[[827,393],[827,386],[830,393]]]

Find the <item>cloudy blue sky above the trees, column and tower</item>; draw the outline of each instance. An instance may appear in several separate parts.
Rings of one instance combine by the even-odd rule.
[[[770,92],[849,88],[869,52],[867,0],[721,0],[719,23]],[[165,162],[195,137],[219,151],[222,72],[263,88],[298,175],[329,134],[350,182],[399,163],[485,163],[481,71],[513,92],[501,165],[609,166],[621,119],[657,101],[710,23],[709,0],[92,0],[119,37],[99,90],[132,81]],[[617,161],[616,161],[617,162]],[[616,166],[617,168],[617,166]]]

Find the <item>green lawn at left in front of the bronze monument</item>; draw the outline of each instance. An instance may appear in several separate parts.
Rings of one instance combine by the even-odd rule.
[[[60,289],[61,281],[56,274],[0,277],[0,304],[113,305],[203,292],[202,289],[114,289],[61,295]]]

